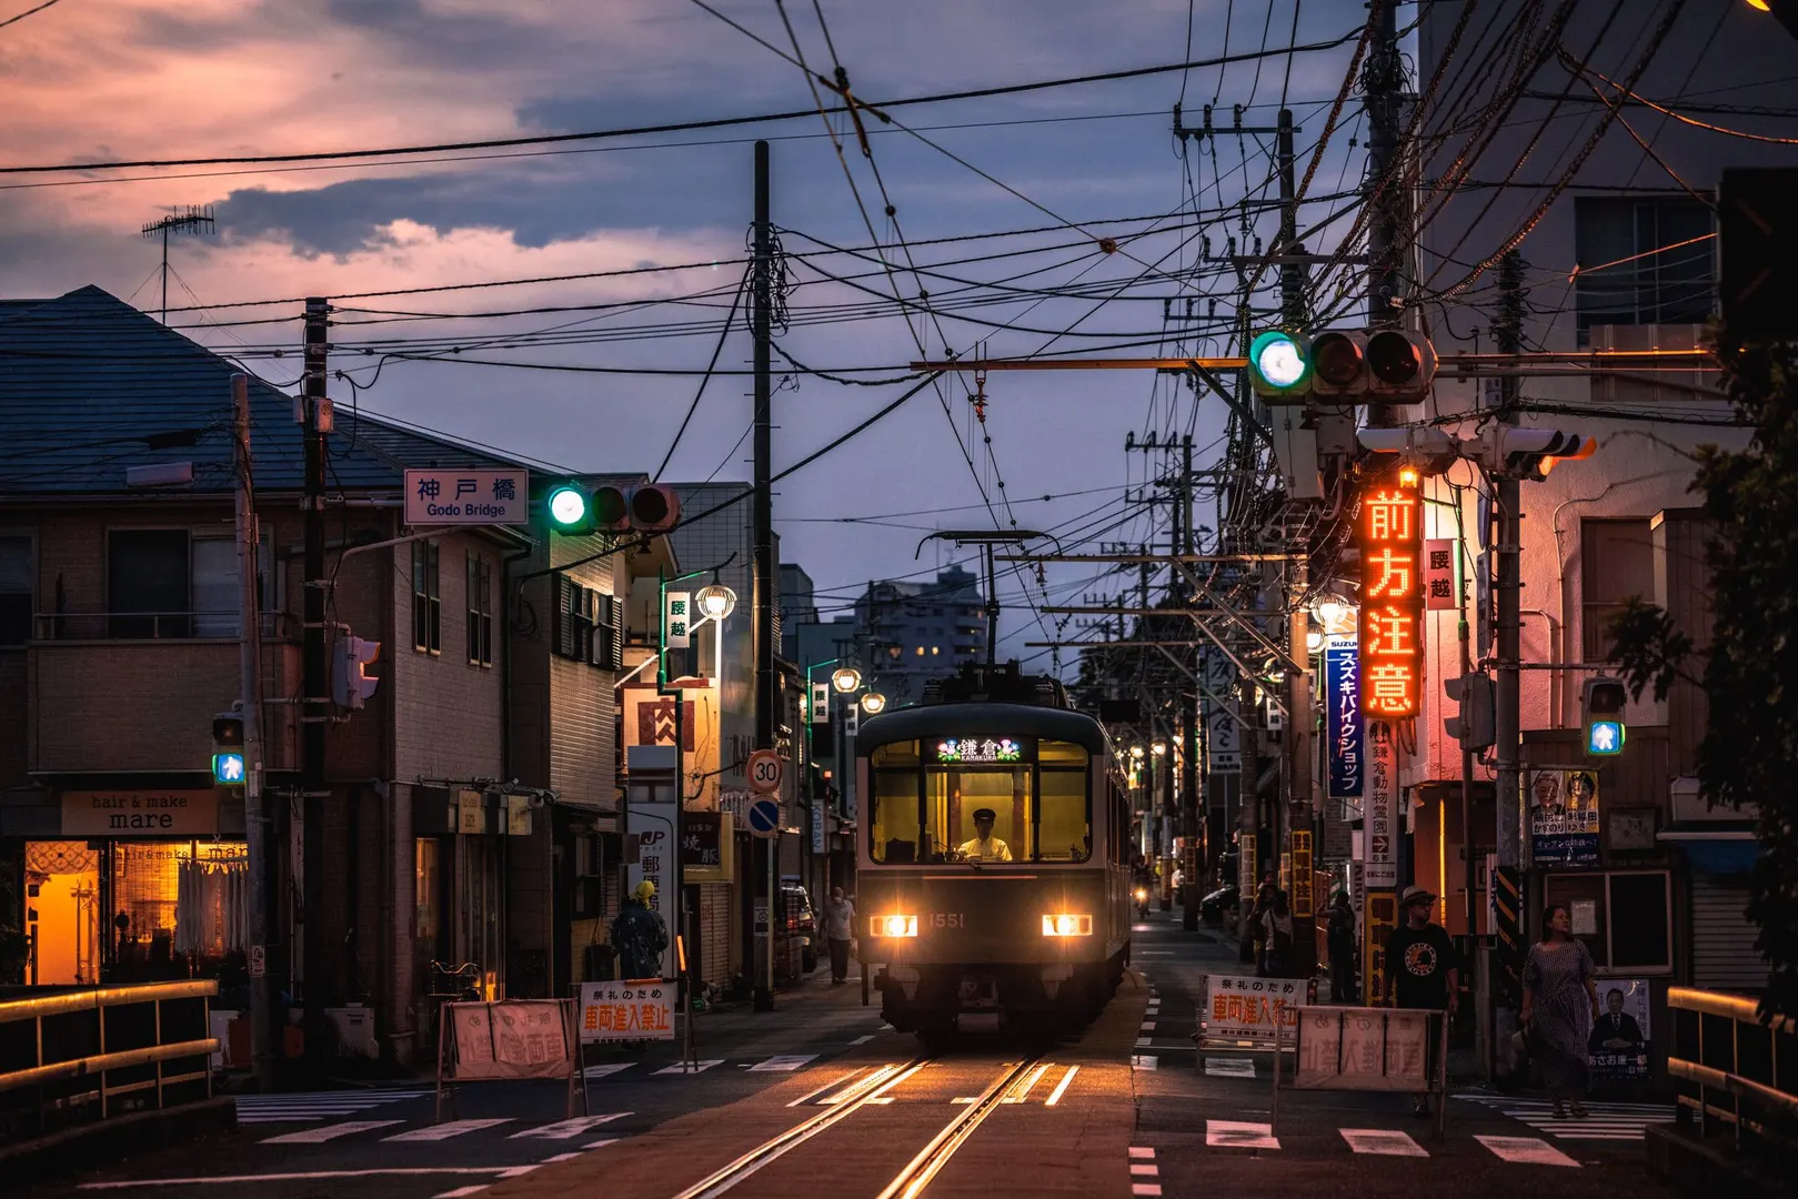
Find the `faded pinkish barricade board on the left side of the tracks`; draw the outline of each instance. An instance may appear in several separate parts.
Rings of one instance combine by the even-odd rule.
[[[455,1086],[512,1079],[559,1079],[574,1116],[581,1053],[574,999],[498,999],[446,1003],[437,1023],[437,1120]],[[583,1091],[583,1107],[586,1093]]]

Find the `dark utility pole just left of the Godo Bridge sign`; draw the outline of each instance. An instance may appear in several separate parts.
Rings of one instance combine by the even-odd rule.
[[[300,703],[300,820],[302,820],[302,992],[307,1028],[324,1019],[324,832],[325,832],[325,728],[331,721],[331,679],[325,662],[325,431],[331,401],[325,399],[325,358],[331,345],[331,306],[322,297],[306,300],[306,377],[300,390],[300,422],[306,428],[306,491],[300,502],[306,521],[300,654],[304,696]]]

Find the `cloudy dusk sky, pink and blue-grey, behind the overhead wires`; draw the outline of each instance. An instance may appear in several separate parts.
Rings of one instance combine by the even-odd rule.
[[[773,0],[714,7],[791,52]],[[829,72],[834,47],[854,92],[872,102],[1284,47],[1295,36],[1295,0],[1194,0],[1190,50],[1187,0],[823,0],[822,11],[829,45],[813,4],[786,5],[807,63]],[[1363,22],[1361,4],[1305,0],[1296,40],[1340,40]],[[654,471],[692,401],[696,376],[467,360],[701,370],[743,271],[735,259],[752,218],[752,142],[768,137],[784,250],[816,255],[854,246],[865,253],[795,259],[791,327],[779,342],[811,369],[861,370],[854,377],[876,383],[811,376],[788,383],[775,395],[779,471],[895,397],[903,386],[881,379],[906,374],[917,358],[913,338],[931,354],[946,347],[966,354],[982,340],[991,356],[1082,347],[1156,354],[1163,336],[1203,333],[1208,295],[1228,293],[1233,275],[1226,282],[1217,264],[1206,268],[1199,237],[1210,235],[1214,253],[1223,255],[1224,239],[1241,230],[1233,216],[1197,228],[1192,207],[1224,209],[1246,192],[1269,194],[1271,138],[1219,137],[1183,160],[1170,135],[1172,106],[1185,95],[1187,120],[1196,122],[1215,101],[1217,120],[1228,122],[1232,106],[1244,104],[1248,124],[1273,124],[1284,93],[1302,126],[1304,171],[1350,50],[1352,43],[1302,54],[1291,67],[1278,56],[1185,77],[895,110],[910,133],[870,120],[872,165],[852,131],[845,153],[883,246],[877,253],[867,250],[868,228],[818,115],[327,169],[13,174],[0,180],[4,295],[49,297],[97,284],[153,311],[158,244],[138,230],[185,205],[210,205],[218,230],[176,241],[171,307],[699,264],[338,302],[356,311],[340,313],[333,367],[352,369],[358,381],[354,394],[333,385],[340,404],[354,399],[570,469]],[[59,0],[0,29],[0,79],[7,95],[0,158],[13,165],[442,144],[813,106],[797,67],[690,0]],[[1347,138],[1359,131],[1357,111],[1356,102],[1345,110],[1343,131],[1309,196],[1354,187],[1363,151],[1348,149]],[[831,128],[849,129],[841,117]],[[919,244],[912,262],[935,271],[921,279],[895,248],[895,226],[883,214],[888,200],[897,228],[913,243],[1045,232]],[[1305,219],[1336,207],[1309,205]],[[1260,214],[1246,239],[1271,237],[1273,228],[1273,214]],[[1100,252],[1099,234],[1120,237],[1118,250]],[[967,261],[994,253],[1009,257]],[[825,271],[856,279],[832,282]],[[971,288],[994,280],[1016,291]],[[894,313],[892,291],[917,297],[921,286],[942,313],[908,327]],[[1030,291],[1070,286],[1084,293]],[[1118,298],[1100,304],[1111,293]],[[1178,313],[1185,297],[1194,297],[1197,324],[1165,322],[1163,300],[1174,298]],[[971,298],[984,302],[962,306]],[[444,318],[624,300],[678,302]],[[1228,316],[1228,306],[1219,311]],[[169,324],[288,385],[298,374],[297,316],[298,304],[218,307],[171,313]],[[270,324],[237,324],[250,320]],[[509,343],[525,333],[534,336]],[[458,361],[385,365],[360,352],[392,349],[394,340],[405,340],[406,352],[464,352],[453,356]],[[1224,349],[1205,336],[1178,345],[1178,352]],[[293,352],[277,360],[270,356],[275,347]],[[1176,342],[1165,342],[1167,352],[1174,349]],[[719,369],[743,370],[748,358],[739,313]],[[933,570],[953,557],[926,545],[913,561],[930,530],[991,527],[982,487],[1001,523],[1016,518],[1023,527],[1059,530],[1070,548],[1084,536],[1136,541],[1149,521],[1127,505],[1126,489],[1165,464],[1126,453],[1124,439],[1170,431],[1172,386],[1138,372],[994,374],[984,430],[992,439],[989,458],[967,403],[973,379],[949,376],[780,484],[782,557],[813,575],[825,606],[847,600],[868,579]],[[750,476],[741,440],[752,417],[748,390],[741,374],[712,379],[663,478]],[[1181,431],[1190,413],[1187,397]],[[1223,417],[1215,399],[1199,406],[1190,428],[1201,458],[1221,435]],[[1045,502],[1045,494],[1057,498]],[[879,521],[845,523],[845,516]],[[1046,581],[1052,602],[1117,586],[1095,579],[1090,566],[1059,566]],[[1030,651],[1021,644],[1045,640],[1045,627],[1018,590],[1001,582],[1009,604],[1001,629],[1005,647],[1023,654]],[[1043,600],[1034,582],[1030,591]],[[1079,633],[1079,624],[1066,633]]]

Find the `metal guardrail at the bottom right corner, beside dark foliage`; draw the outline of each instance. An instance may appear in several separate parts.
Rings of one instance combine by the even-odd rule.
[[[1737,1150],[1798,1154],[1798,1023],[1764,1021],[1753,999],[1670,987],[1674,1037],[1667,1073],[1681,1124],[1701,1138],[1728,1132]]]

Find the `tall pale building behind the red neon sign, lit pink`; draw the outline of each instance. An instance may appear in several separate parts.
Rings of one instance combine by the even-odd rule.
[[[1523,7],[1501,5],[1500,25]],[[1456,40],[1460,18],[1460,4],[1435,4],[1420,13],[1419,77],[1433,77]],[[1616,23],[1606,31],[1604,22],[1604,13],[1580,7],[1562,41],[1591,45],[1586,61],[1593,72],[1629,77],[1643,54],[1643,29]],[[1460,86],[1444,88],[1424,113],[1426,131],[1447,129],[1492,99],[1503,72],[1480,77],[1467,67],[1483,52],[1462,43],[1449,77],[1474,83],[1465,95]],[[1482,126],[1492,142],[1467,178],[1455,165],[1460,138],[1438,144],[1420,176],[1460,178],[1460,185],[1440,196],[1422,192],[1426,219],[1413,264],[1417,291],[1453,297],[1424,306],[1438,351],[1491,351],[1507,297],[1521,309],[1521,345],[1528,349],[1696,345],[1715,311],[1710,203],[1722,171],[1798,164],[1798,147],[1724,137],[1701,126],[1778,133],[1757,111],[1789,108],[1784,75],[1791,52],[1784,31],[1748,5],[1690,9],[1667,32],[1634,90],[1645,97],[1683,97],[1669,102],[1699,126],[1629,102],[1622,119],[1604,128],[1606,104],[1586,81],[1550,61],[1527,90],[1505,97],[1514,108],[1501,122]],[[1652,151],[1624,128],[1625,120]],[[1553,151],[1546,142],[1532,151],[1532,138],[1548,128],[1566,131],[1550,138]],[[1591,155],[1575,162],[1570,155],[1593,135],[1598,137]],[[1571,174],[1562,180],[1566,171]],[[1527,230],[1521,261],[1507,264],[1494,248],[1518,230]],[[1611,653],[1607,620],[1629,597],[1661,604],[1705,642],[1705,530],[1690,511],[1688,453],[1701,442],[1739,446],[1746,433],[1728,428],[1730,408],[1715,392],[1715,376],[1696,370],[1543,374],[1521,379],[1516,392],[1501,379],[1440,376],[1431,410],[1415,415],[1467,413],[1460,431],[1473,435],[1476,417],[1491,415],[1512,394],[1523,424],[1600,440],[1595,457],[1561,464],[1544,482],[1521,485],[1528,665],[1523,762],[1525,793],[1537,796],[1566,784],[1564,768],[1593,766],[1577,744],[1580,687],[1604,669]],[[1455,480],[1464,476],[1456,473]],[[1428,505],[1426,536],[1456,539],[1464,561],[1473,564],[1483,502],[1471,489],[1451,491],[1446,478],[1429,484],[1429,498],[1442,503]],[[1489,597],[1483,566],[1471,577],[1474,604],[1483,606]],[[1431,681],[1417,724],[1417,751],[1401,762],[1401,782],[1410,800],[1411,875],[1444,893],[1449,929],[1464,931],[1469,908],[1464,850],[1467,861],[1489,861],[1498,813],[1489,795],[1476,793],[1471,836],[1462,830],[1460,751],[1442,728],[1455,705],[1440,685],[1460,674],[1455,622],[1453,611],[1431,615],[1426,649]],[[1491,658],[1487,622],[1478,624],[1474,658]],[[1663,703],[1645,696],[1629,706],[1627,723],[1625,753],[1597,768],[1593,852],[1579,863],[1559,856],[1534,861],[1527,874],[1528,928],[1535,931],[1543,904],[1570,902],[1575,933],[1591,947],[1600,973],[1647,980],[1656,1001],[1674,983],[1757,989],[1766,973],[1744,917],[1753,843],[1742,818],[1749,814],[1706,813],[1694,802],[1705,696],[1690,685],[1676,687]],[[1489,780],[1491,773],[1480,768],[1478,778]],[[1527,850],[1530,820],[1527,809],[1521,818]],[[1487,910],[1483,879],[1485,872],[1476,870],[1471,904],[1476,922]]]

